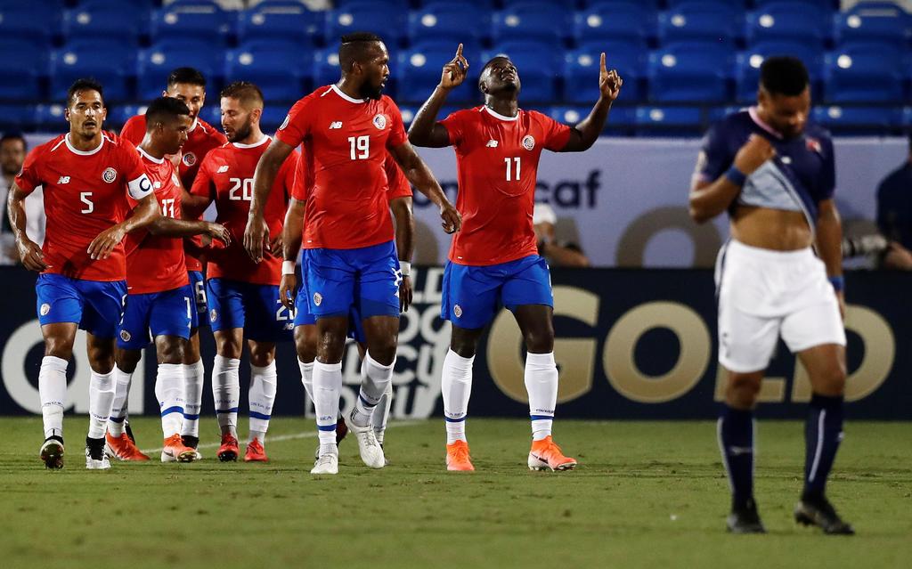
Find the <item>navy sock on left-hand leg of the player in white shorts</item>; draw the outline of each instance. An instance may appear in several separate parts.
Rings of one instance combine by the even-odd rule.
[[[731,507],[753,502],[753,411],[725,406],[718,424],[722,463],[731,484]]]

